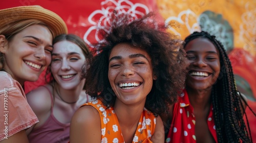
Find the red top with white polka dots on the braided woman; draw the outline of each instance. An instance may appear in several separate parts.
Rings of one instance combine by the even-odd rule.
[[[214,137],[215,141],[218,142],[213,115],[213,108],[212,105],[210,105],[207,125],[211,135]],[[190,105],[187,91],[184,89],[178,102],[174,104],[173,120],[165,142],[196,143],[195,125],[196,118],[194,108]]]

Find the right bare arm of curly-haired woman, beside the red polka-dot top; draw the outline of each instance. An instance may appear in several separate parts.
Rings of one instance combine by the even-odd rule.
[[[164,142],[164,126],[160,116],[156,117],[156,129],[151,140],[153,142]]]

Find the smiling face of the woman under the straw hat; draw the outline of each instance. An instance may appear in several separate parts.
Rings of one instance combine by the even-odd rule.
[[[17,33],[1,47],[5,54],[4,69],[20,84],[36,81],[50,64],[52,34],[42,25],[33,25]]]

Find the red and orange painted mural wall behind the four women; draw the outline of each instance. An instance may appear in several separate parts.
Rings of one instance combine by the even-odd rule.
[[[215,34],[229,53],[238,88],[256,111],[256,1],[254,0],[16,0],[1,1],[0,9],[14,6],[40,5],[59,14],[67,23],[69,33],[87,44],[99,41],[95,26],[108,23],[108,15],[130,12],[144,15],[157,11],[159,20],[173,27],[170,32],[184,39],[194,31]],[[27,82],[28,92],[44,84],[44,74],[38,81]],[[256,141],[256,118],[248,110],[250,129]]]

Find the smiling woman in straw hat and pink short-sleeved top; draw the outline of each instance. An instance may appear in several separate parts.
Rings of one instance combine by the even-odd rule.
[[[40,6],[0,10],[0,142],[29,142],[25,130],[38,122],[23,90],[50,64],[55,36],[65,22]]]

